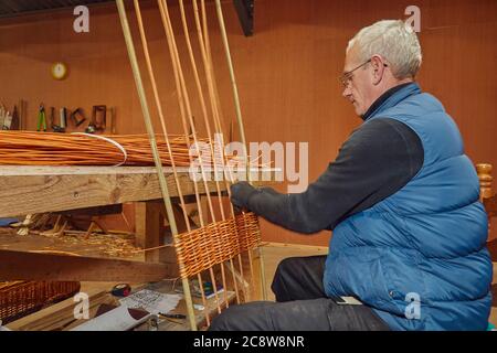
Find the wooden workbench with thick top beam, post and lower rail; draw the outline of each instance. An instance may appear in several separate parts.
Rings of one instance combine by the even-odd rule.
[[[176,203],[176,212],[181,214],[178,207],[178,190],[171,169],[168,172],[167,182],[170,196]],[[266,180],[271,179],[271,174]],[[274,175],[273,175],[274,176]],[[190,179],[188,169],[179,173],[179,182],[182,194],[187,203],[194,203],[194,183]],[[269,182],[260,182],[268,184]],[[225,193],[225,183],[220,182],[221,192]],[[203,182],[198,182],[199,193],[205,195],[207,191]],[[208,192],[216,193],[216,183],[208,182]],[[163,234],[163,220],[167,218],[163,210],[162,195],[159,188],[157,171],[152,167],[0,167],[0,217],[12,217],[36,213],[63,212],[96,206],[115,205],[127,202],[136,202],[136,243],[142,248],[154,248],[161,246],[167,239]],[[205,197],[203,197],[205,199]],[[205,200],[203,200],[203,204]],[[186,232],[184,224],[181,225],[181,216],[178,217],[179,232]],[[192,217],[194,222],[194,217]],[[197,225],[198,226],[198,225]],[[1,245],[1,244],[0,244]],[[0,249],[0,260],[11,261],[17,257],[27,257],[25,254],[10,254]],[[19,255],[19,256],[18,256]],[[10,268],[0,269],[2,280],[12,279],[53,279],[53,280],[123,280],[126,277],[139,277],[144,274],[149,279],[157,279],[160,276],[177,272],[176,257],[173,248],[166,248],[157,252],[146,253],[147,263],[161,263],[162,267],[141,266],[142,264],[103,261],[94,258],[62,258],[61,255],[33,255],[33,260],[12,264]],[[59,260],[57,260],[59,259]],[[92,264],[95,271],[88,271],[87,278],[84,272],[75,276],[73,270],[66,270],[72,266],[77,267],[81,261],[86,260]],[[62,266],[57,264],[67,264]],[[155,265],[155,264],[154,264]],[[47,267],[46,267],[47,266]],[[102,271],[103,267],[116,268],[116,271]],[[43,270],[41,270],[43,268]],[[121,268],[118,270],[118,268]],[[119,271],[123,271],[120,276]],[[44,278],[50,274],[52,278]],[[155,275],[156,274],[156,275]],[[15,278],[15,275],[22,275]],[[25,277],[30,278],[25,278]],[[70,278],[72,277],[72,278]]]

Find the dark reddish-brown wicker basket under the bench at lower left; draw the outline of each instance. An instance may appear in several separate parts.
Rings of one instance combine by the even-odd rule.
[[[0,320],[3,324],[15,321],[74,296],[80,288],[75,281],[0,282]]]

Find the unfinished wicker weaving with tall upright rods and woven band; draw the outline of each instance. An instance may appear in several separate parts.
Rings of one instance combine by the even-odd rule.
[[[200,2],[200,3],[199,3]],[[191,97],[193,97],[194,93],[197,93],[198,101],[200,103],[201,113],[204,121],[204,126],[207,128],[208,139],[213,141],[213,133],[223,135],[223,115],[221,109],[221,99],[219,96],[218,86],[215,83],[215,74],[214,74],[214,64],[211,55],[211,44],[210,44],[210,34],[209,34],[209,25],[208,25],[208,13],[205,0],[192,0],[191,8],[192,19],[193,21],[188,21],[183,0],[179,0],[180,14],[181,14],[181,23],[182,23],[182,33],[184,39],[184,44],[188,50],[187,57],[180,56],[180,51],[178,50],[177,40],[180,40],[180,36],[177,38],[175,33],[175,28],[172,25],[172,21],[170,18],[169,9],[167,0],[158,0],[158,10],[160,13],[160,19],[162,21],[167,45],[169,49],[170,62],[172,64],[172,71],[175,74],[175,85],[177,90],[177,98],[180,108],[180,117],[183,126],[183,135],[191,135],[193,138],[193,143],[198,146],[197,141],[197,129],[195,124],[192,119],[192,101]],[[144,122],[149,133],[150,139],[155,136],[154,126],[151,124],[150,117],[150,105],[147,99],[147,93],[144,85],[142,72],[140,65],[138,63],[137,51],[135,49],[135,43],[133,39],[131,29],[128,22],[126,6],[124,0],[116,0],[117,9],[119,12],[120,22],[123,25],[123,33],[125,36],[126,46],[128,50],[129,62],[131,65],[135,84],[137,86],[137,93],[140,98],[141,110],[144,114]],[[157,108],[157,113],[161,122],[162,135],[166,137],[169,136],[167,129],[167,121],[165,118],[161,97],[163,95],[159,92],[159,85],[157,84],[156,74],[154,69],[154,62],[150,56],[148,40],[147,40],[147,30],[144,23],[144,19],[141,17],[140,4],[138,0],[134,0],[135,14],[138,23],[138,31],[142,47],[142,54],[145,56],[146,67],[148,77],[150,79],[151,88],[152,88],[152,97],[155,101],[155,107]],[[236,78],[234,74],[233,63],[230,53],[230,46],[228,42],[228,34],[224,24],[224,18],[222,13],[221,1],[215,0],[215,12],[218,14],[219,29],[221,33],[221,39],[224,46],[224,53],[226,56],[226,63],[230,71],[230,81],[232,83],[233,90],[233,99],[236,113],[236,121],[239,127],[239,133],[241,143],[246,148],[246,139],[245,131],[243,126],[243,118],[240,105],[240,98],[236,86]],[[197,31],[190,31],[189,25],[195,28]],[[197,40],[191,41],[190,36],[192,33],[195,33]],[[182,39],[181,39],[182,40]],[[197,45],[197,58],[195,51],[193,49],[193,44]],[[200,55],[199,55],[200,54]],[[197,89],[192,89],[189,92],[186,75],[183,73],[183,67],[189,66],[191,73],[193,75],[193,82]],[[204,82],[202,83],[202,78],[200,77],[201,73],[205,74]],[[207,87],[207,93],[204,93],[204,87]],[[191,133],[189,133],[191,131]],[[167,211],[168,221],[170,223],[170,228],[173,237],[176,255],[180,268],[180,276],[182,282],[182,290],[184,292],[184,300],[187,304],[188,311],[188,320],[192,330],[197,330],[195,322],[195,313],[192,301],[192,296],[190,291],[189,281],[195,278],[199,284],[203,284],[202,276],[209,277],[209,281],[212,284],[213,292],[215,296],[215,304],[218,309],[218,313],[221,313],[223,308],[229,307],[230,302],[228,299],[228,284],[229,284],[229,274],[231,274],[233,279],[233,291],[236,295],[236,302],[240,303],[243,300],[251,300],[252,288],[255,288],[255,276],[253,268],[253,249],[260,248],[261,236],[258,231],[257,218],[254,214],[243,214],[242,216],[236,216],[234,212],[233,205],[230,207],[230,213],[226,214],[223,210],[222,197],[220,183],[216,182],[216,199],[219,201],[219,213],[215,212],[216,206],[214,205],[215,200],[212,200],[211,194],[207,193],[207,208],[205,212],[202,211],[201,207],[201,195],[197,192],[199,189],[198,182],[194,181],[195,189],[195,201],[199,211],[199,228],[192,227],[188,214],[186,213],[186,204],[183,200],[183,193],[179,185],[178,179],[176,180],[178,195],[179,195],[179,206],[183,210],[183,218],[184,225],[187,227],[187,232],[178,232],[178,227],[176,224],[176,218],[172,210],[172,202],[170,197],[170,193],[168,190],[167,182],[163,178],[162,165],[160,163],[159,152],[157,148],[151,142],[152,152],[156,161],[157,174],[159,175],[159,184],[163,195],[163,203]],[[211,149],[213,148],[212,143],[210,145]],[[197,153],[200,156],[200,153]],[[244,159],[245,168],[248,167],[247,160],[248,156],[245,150],[245,156],[242,156]],[[211,156],[215,156],[214,150],[211,151]],[[171,158],[173,159],[173,158]],[[226,160],[225,156],[222,156],[222,160]],[[203,174],[202,164],[200,165],[201,172]],[[175,165],[172,165],[175,170]],[[214,169],[216,168],[216,163],[214,163]],[[215,172],[215,171],[214,171]],[[175,174],[176,175],[176,174]],[[246,170],[246,175],[250,179],[248,170]],[[224,179],[225,190],[228,191],[229,196],[231,196],[229,183],[233,183],[233,175],[228,172],[225,175],[228,178]],[[230,182],[228,181],[230,179]],[[250,180],[248,180],[250,181]],[[200,181],[203,183],[204,190],[208,190],[207,181],[203,179]],[[250,265],[250,279],[248,284],[244,279],[244,270],[243,270],[243,259],[242,255],[247,257],[247,263]],[[262,285],[265,282],[264,279],[264,265],[263,258],[260,254],[260,274],[261,274],[261,289],[262,297],[265,299],[265,286]],[[235,266],[235,261],[237,261],[237,268]],[[229,272],[225,271],[225,267],[229,268]],[[220,275],[220,278],[216,277],[215,272]],[[240,275],[237,275],[240,274]],[[220,300],[218,296],[218,285],[216,282],[221,282],[221,288],[224,290],[224,300]],[[200,286],[202,304],[207,308],[207,299],[205,293],[203,292],[203,286]],[[208,311],[203,312],[205,318],[207,325],[210,325],[210,314]]]

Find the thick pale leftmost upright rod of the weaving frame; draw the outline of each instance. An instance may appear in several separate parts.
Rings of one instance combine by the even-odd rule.
[[[137,86],[137,90],[138,90],[138,95],[139,95],[139,99],[140,99],[140,104],[141,104],[141,110],[144,113],[145,125],[147,127],[147,131],[148,131],[149,139],[150,139],[150,146],[152,148],[154,159],[156,162],[157,173],[159,176],[160,190],[162,192],[166,211],[167,211],[168,218],[169,218],[169,225],[171,227],[172,234],[178,235],[178,227],[176,224],[175,214],[172,212],[171,197],[169,195],[168,184],[167,184],[166,178],[163,175],[162,163],[160,161],[159,151],[157,149],[157,143],[156,143],[155,133],[154,133],[154,126],[152,126],[151,119],[150,119],[150,111],[148,109],[148,103],[147,103],[147,97],[145,95],[145,88],[144,88],[144,83],[141,79],[140,68],[139,68],[138,60],[137,60],[136,52],[135,52],[135,44],[133,43],[131,31],[129,30],[129,23],[128,23],[128,19],[126,15],[126,8],[124,6],[123,0],[116,0],[116,4],[117,4],[117,9],[119,11],[119,19],[120,19],[120,23],[123,25],[123,32],[124,32],[124,36],[125,36],[125,41],[126,41],[126,46],[128,50],[129,61],[130,61],[131,67],[133,67],[135,83]],[[192,331],[197,331],[197,322],[195,322],[195,317],[194,317],[194,311],[193,311],[193,302],[191,300],[190,284],[188,282],[188,278],[182,279],[182,285],[183,285],[183,291],[186,295],[184,300],[187,302],[187,310],[188,310],[188,317],[190,320],[190,325],[191,325]]]

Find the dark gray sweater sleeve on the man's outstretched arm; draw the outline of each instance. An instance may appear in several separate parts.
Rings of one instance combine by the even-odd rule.
[[[411,128],[394,119],[376,118],[352,132],[337,159],[305,192],[253,189],[242,206],[298,233],[334,229],[346,217],[402,189],[423,160],[421,140]]]

